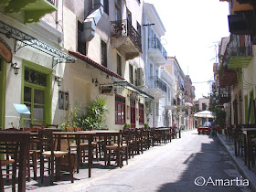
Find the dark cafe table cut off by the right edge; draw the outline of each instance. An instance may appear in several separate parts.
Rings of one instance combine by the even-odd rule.
[[[248,168],[251,169],[251,164],[250,164],[250,161],[251,161],[251,151],[250,151],[250,137],[251,137],[251,134],[256,134],[256,128],[242,128],[241,129],[242,133],[244,134],[244,162],[245,162],[245,165],[248,165]]]

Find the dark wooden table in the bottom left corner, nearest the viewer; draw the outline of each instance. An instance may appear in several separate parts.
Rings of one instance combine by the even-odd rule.
[[[26,191],[27,153],[30,132],[0,131],[0,142],[19,142],[18,191]]]

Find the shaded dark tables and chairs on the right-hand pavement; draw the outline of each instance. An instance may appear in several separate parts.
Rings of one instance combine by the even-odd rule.
[[[249,169],[256,161],[256,124],[237,124],[226,130],[226,140],[234,143],[234,153]]]

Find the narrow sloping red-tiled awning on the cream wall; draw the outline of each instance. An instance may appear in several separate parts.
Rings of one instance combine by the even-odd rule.
[[[108,74],[112,77],[118,78],[120,80],[124,80],[123,77],[121,77],[117,73],[113,72],[111,69],[107,69],[106,67],[104,67],[101,64],[95,62],[94,60],[88,58],[87,56],[82,55],[79,52],[74,52],[74,51],[69,50],[69,54],[75,56],[78,59],[81,59],[81,60],[85,61],[86,63],[90,64],[94,68],[100,69],[101,71],[105,72],[106,74]]]

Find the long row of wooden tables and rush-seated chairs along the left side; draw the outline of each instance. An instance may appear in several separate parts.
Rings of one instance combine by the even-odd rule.
[[[103,161],[105,166],[114,162],[122,168],[124,161],[127,165],[128,159],[134,155],[143,154],[155,145],[171,142],[177,133],[180,137],[180,132],[172,127],[123,128],[120,131],[83,131],[74,127],[62,132],[54,124],[1,129],[0,191],[4,191],[5,187],[16,191],[16,186],[18,191],[26,191],[30,172],[37,180],[37,170],[41,183],[48,176],[49,184],[53,185],[62,172],[68,172],[73,183],[74,174],[79,174],[83,165],[87,165],[88,176],[91,177],[93,161]]]

